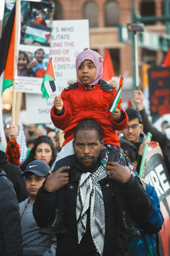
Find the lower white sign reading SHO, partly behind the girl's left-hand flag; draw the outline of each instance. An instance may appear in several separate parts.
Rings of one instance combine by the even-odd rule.
[[[56,94],[52,94],[46,102],[42,94],[26,94],[27,121],[31,124],[51,123],[50,110],[54,105]]]

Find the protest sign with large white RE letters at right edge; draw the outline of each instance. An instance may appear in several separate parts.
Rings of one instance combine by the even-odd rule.
[[[170,176],[158,143],[151,142],[143,176],[152,185],[159,197],[160,208],[164,217],[162,230],[159,232],[160,255],[170,255]]]

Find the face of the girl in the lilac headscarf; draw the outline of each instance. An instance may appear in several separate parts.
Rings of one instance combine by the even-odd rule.
[[[96,67],[92,60],[84,60],[78,68],[78,79],[82,84],[90,84],[96,77]]]

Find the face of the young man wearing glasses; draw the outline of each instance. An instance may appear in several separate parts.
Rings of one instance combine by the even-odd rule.
[[[140,133],[143,132],[143,125],[140,125],[138,118],[129,121],[128,127],[126,129],[122,131],[125,140],[131,143],[140,141],[139,136]]]

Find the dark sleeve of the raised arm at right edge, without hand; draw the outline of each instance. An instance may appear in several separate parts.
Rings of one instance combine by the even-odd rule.
[[[156,141],[159,143],[161,149],[163,149],[166,152],[167,157],[170,161],[170,140],[168,140],[165,134],[160,132],[156,127],[152,125],[152,123],[149,121],[145,109],[139,112],[143,120],[144,133],[147,134],[148,132],[150,132],[152,134],[152,141]]]

